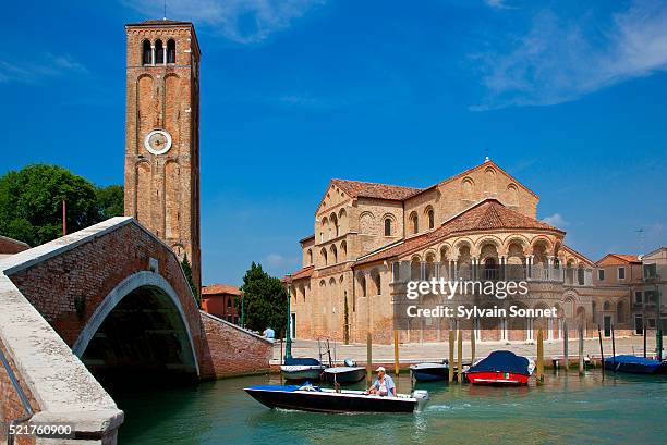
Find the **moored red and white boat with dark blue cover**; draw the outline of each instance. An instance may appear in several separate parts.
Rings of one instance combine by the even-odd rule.
[[[527,385],[535,362],[509,350],[495,350],[476,361],[465,375],[473,385]]]

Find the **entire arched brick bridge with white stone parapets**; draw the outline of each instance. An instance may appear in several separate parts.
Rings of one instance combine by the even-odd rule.
[[[28,417],[23,395],[29,422],[71,423],[86,444],[116,443],[123,413],[99,383],[110,376],[258,373],[271,355],[269,342],[199,311],[178,258],[132,218],[0,260],[0,427]]]

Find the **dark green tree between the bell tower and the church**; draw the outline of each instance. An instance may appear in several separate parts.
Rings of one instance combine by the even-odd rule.
[[[245,327],[264,331],[270,326],[278,337],[287,327],[287,291],[279,279],[270,276],[262,264],[253,262],[243,276]]]

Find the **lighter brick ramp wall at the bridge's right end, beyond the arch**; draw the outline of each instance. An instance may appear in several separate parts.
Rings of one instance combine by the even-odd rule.
[[[272,344],[231,323],[201,312],[204,342],[202,379],[268,372]]]

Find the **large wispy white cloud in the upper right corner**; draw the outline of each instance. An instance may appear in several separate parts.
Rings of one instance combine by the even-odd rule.
[[[508,51],[473,55],[488,96],[471,110],[562,103],[667,70],[667,3],[635,0],[606,23],[594,15],[541,11]]]

